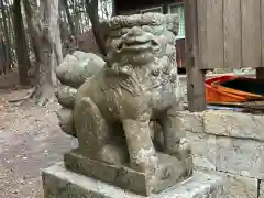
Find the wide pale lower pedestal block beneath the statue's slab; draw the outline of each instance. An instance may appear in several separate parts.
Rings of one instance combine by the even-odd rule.
[[[55,164],[42,172],[44,198],[143,198]],[[195,172],[193,177],[150,198],[222,198],[222,178]]]

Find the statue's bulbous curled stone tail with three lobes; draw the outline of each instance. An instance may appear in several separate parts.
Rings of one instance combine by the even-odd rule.
[[[80,51],[68,54],[58,65],[56,76],[62,85],[56,91],[56,97],[63,108],[57,112],[57,117],[59,127],[65,133],[76,136],[73,108],[77,89],[103,66],[105,61],[101,57]]]

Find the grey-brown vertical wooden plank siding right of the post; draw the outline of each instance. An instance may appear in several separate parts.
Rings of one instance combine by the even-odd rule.
[[[264,66],[263,1],[197,0],[200,69]]]

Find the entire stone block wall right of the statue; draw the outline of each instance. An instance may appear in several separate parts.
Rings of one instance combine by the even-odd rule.
[[[230,198],[264,198],[264,116],[182,112],[196,168],[226,178]]]

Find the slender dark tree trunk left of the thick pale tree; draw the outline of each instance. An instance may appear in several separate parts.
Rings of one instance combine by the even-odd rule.
[[[23,26],[20,0],[13,2],[13,22],[15,34],[15,52],[19,65],[19,81],[21,85],[29,85],[28,69],[30,67],[30,58],[26,47],[25,32]]]

